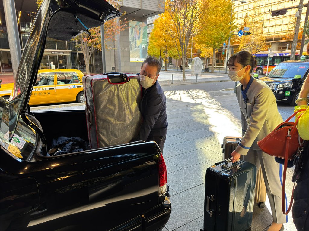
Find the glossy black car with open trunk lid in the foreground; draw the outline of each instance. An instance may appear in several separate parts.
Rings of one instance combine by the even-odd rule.
[[[167,223],[167,172],[155,142],[48,156],[59,134],[88,139],[85,111],[28,107],[46,38],[85,30],[77,16],[90,28],[120,14],[106,1],[42,2],[11,100],[0,97],[0,230],[157,231]]]

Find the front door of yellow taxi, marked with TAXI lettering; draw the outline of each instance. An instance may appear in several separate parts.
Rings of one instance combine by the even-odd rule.
[[[56,101],[55,74],[42,73],[37,76],[29,104],[54,103]]]

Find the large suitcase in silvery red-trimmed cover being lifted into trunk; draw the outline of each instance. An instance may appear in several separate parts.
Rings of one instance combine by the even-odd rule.
[[[130,142],[138,135],[142,88],[136,74],[107,73],[83,76],[90,147]]]

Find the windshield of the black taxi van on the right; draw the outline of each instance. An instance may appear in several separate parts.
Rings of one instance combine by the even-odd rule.
[[[304,77],[309,65],[277,65],[268,75],[269,78],[294,78],[295,75]]]

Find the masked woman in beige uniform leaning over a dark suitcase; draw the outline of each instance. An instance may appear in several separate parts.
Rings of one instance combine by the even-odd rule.
[[[273,156],[262,152],[257,145],[258,140],[272,132],[283,120],[272,90],[264,82],[251,76],[256,64],[256,60],[247,51],[240,51],[227,61],[229,78],[239,81],[236,96],[242,125],[242,140],[231,156],[233,163],[243,155],[243,160],[255,164],[257,169],[261,166],[273,214],[273,223],[268,231],[283,231],[287,216],[281,210],[282,165]],[[244,217],[247,212],[244,205],[240,217]]]

